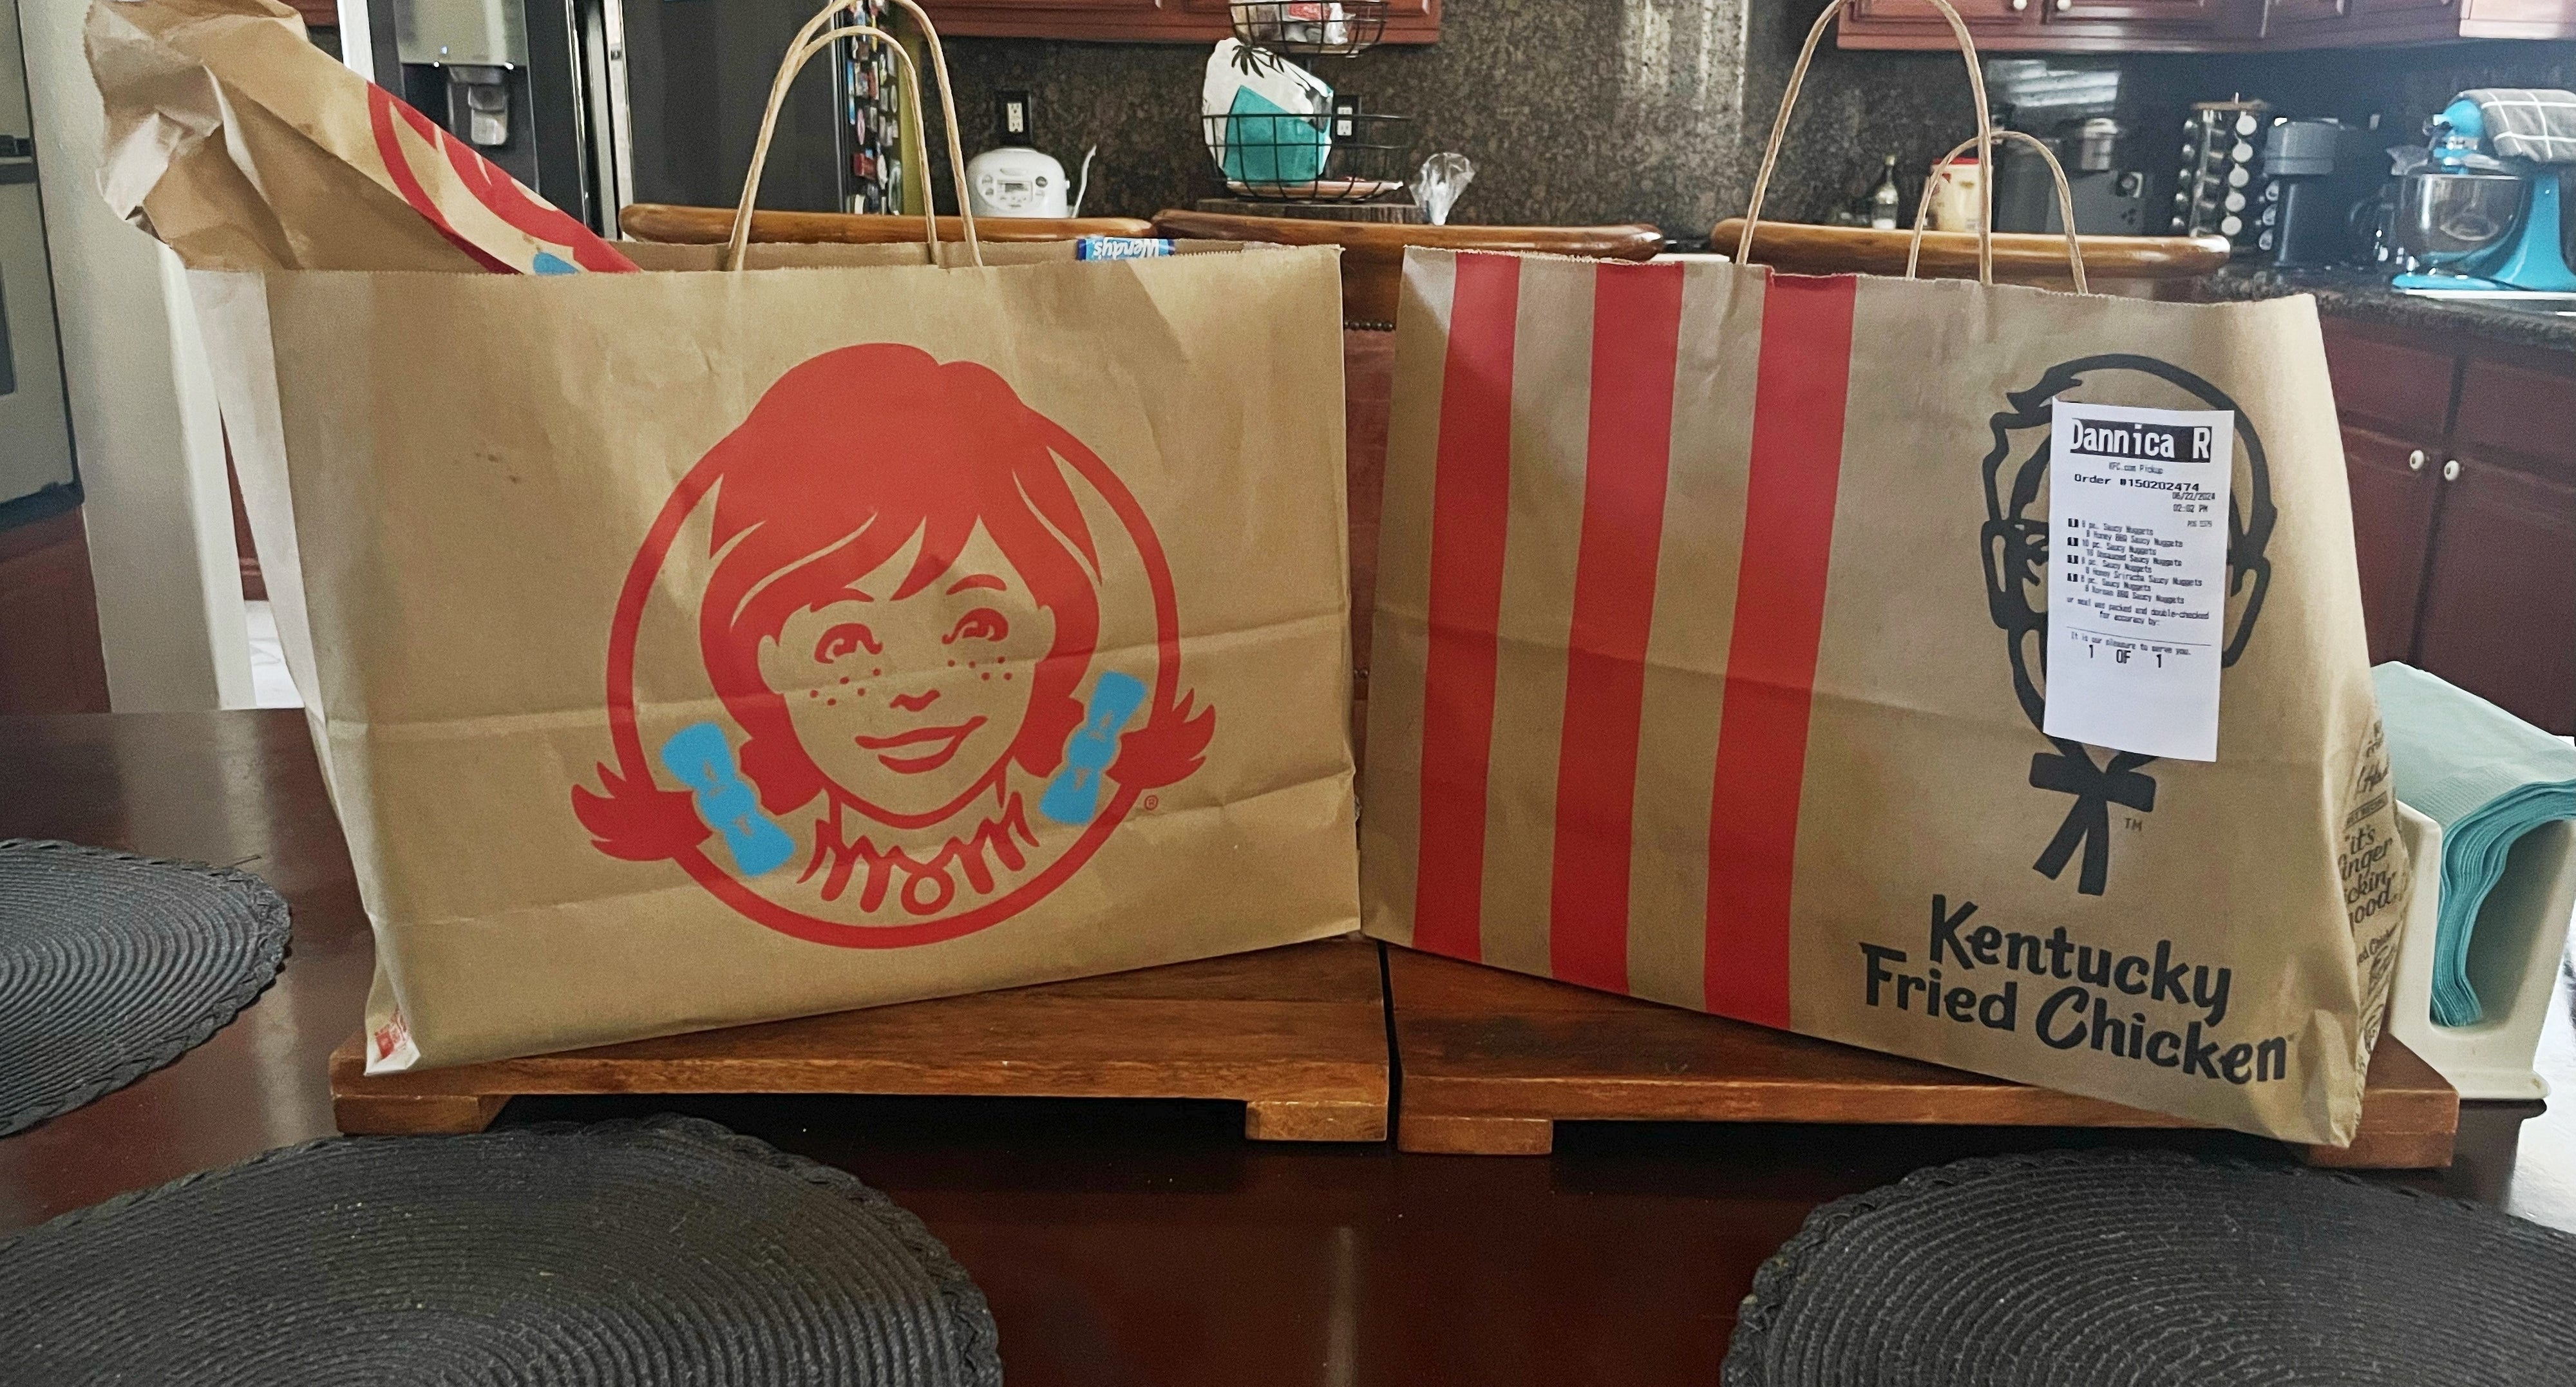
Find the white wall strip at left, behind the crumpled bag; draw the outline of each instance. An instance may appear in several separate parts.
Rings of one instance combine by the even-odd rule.
[[[98,196],[82,0],[18,0],[72,446],[116,712],[250,706],[222,425],[178,258]]]

